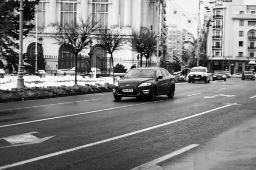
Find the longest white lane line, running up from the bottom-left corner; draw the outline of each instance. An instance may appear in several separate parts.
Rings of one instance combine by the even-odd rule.
[[[13,163],[13,164],[4,165],[4,166],[0,167],[0,170],[4,170],[4,169],[10,168],[10,167],[16,167],[16,166],[19,166],[19,165],[22,165],[22,164],[27,164],[27,163],[30,163],[30,162],[33,162],[33,161],[38,161],[38,160],[41,160],[41,159],[50,158],[50,157],[61,155],[61,154],[64,154],[64,153],[69,153],[69,152],[72,152],[72,151],[75,151],[75,150],[80,150],[80,149],[83,149],[83,148],[86,148],[86,147],[90,147],[90,146],[94,146],[94,145],[97,145],[97,144],[102,144],[102,143],[105,143],[105,142],[110,142],[110,141],[113,141],[113,140],[116,140],[116,139],[121,139],[121,138],[124,138],[124,137],[127,137],[127,136],[135,135],[137,133],[142,133],[142,132],[145,132],[145,131],[148,131],[148,130],[152,130],[152,129],[155,129],[155,128],[158,128],[158,127],[162,127],[162,126],[166,126],[166,125],[171,125],[171,124],[176,123],[176,122],[180,122],[180,121],[183,121],[183,120],[186,120],[186,119],[190,119],[190,118],[193,118],[193,117],[196,117],[196,116],[200,116],[200,115],[212,112],[212,111],[217,111],[217,110],[222,109],[222,108],[227,108],[227,107],[232,106],[232,105],[234,105],[234,104],[224,105],[224,106],[221,106],[219,108],[215,108],[215,109],[211,109],[209,111],[205,111],[205,112],[202,112],[202,113],[194,114],[192,116],[188,116],[188,117],[177,119],[177,120],[174,120],[174,121],[171,121],[171,122],[167,122],[167,123],[163,123],[163,124],[160,124],[160,125],[148,127],[148,128],[142,129],[142,130],[137,130],[135,132],[126,133],[126,134],[121,135],[121,136],[116,136],[116,137],[109,138],[109,139],[104,139],[104,140],[101,140],[101,141],[98,141],[98,142],[93,142],[93,143],[90,143],[90,144],[85,144],[85,145],[82,145],[82,146],[79,146],[79,147],[73,147],[73,148],[70,148],[70,149],[67,149],[67,150],[61,150],[59,152],[50,153],[50,154],[47,154],[47,155],[44,155],[44,156],[39,156],[37,158],[27,159],[25,161],[20,161],[20,162],[16,162],[16,163]]]

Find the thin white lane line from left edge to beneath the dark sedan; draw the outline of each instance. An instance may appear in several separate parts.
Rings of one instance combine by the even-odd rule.
[[[163,100],[154,101],[154,102],[162,102],[162,101]],[[110,111],[110,110],[113,110],[113,109],[127,108],[127,107],[137,106],[137,105],[145,105],[145,104],[154,103],[154,102],[145,102],[145,103],[140,103],[140,104],[135,104],[135,105],[126,105],[126,106],[120,106],[120,107],[116,107],[116,108],[108,108],[108,109],[102,109],[102,110],[97,110],[97,111],[89,111],[89,112],[84,112],[84,113],[77,113],[77,114],[70,114],[70,115],[65,115],[65,116],[51,117],[51,118],[47,118],[47,119],[32,120],[32,121],[29,121],[29,122],[21,122],[21,123],[15,123],[15,124],[10,124],[10,125],[3,125],[3,126],[0,126],[0,128],[1,127],[8,127],[8,126],[15,126],[15,125],[28,124],[28,123],[33,123],[33,122],[41,122],[41,121],[45,121],[45,120],[59,119],[59,118],[70,117],[70,116],[78,116],[78,115],[89,114],[89,113],[96,113],[96,112],[101,112],[101,111]]]

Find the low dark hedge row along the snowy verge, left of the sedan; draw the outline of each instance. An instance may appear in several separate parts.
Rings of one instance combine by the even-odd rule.
[[[73,87],[32,87],[21,88],[12,91],[0,90],[0,102],[15,102],[22,100],[48,99],[82,94],[111,92],[113,86],[75,85]]]

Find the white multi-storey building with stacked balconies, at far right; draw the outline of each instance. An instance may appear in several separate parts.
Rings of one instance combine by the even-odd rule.
[[[211,70],[234,73],[250,69],[256,60],[256,6],[243,0],[220,0],[212,3],[207,25],[207,57]]]

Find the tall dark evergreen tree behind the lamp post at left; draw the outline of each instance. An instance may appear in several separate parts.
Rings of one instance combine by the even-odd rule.
[[[35,5],[40,0],[24,0],[24,20],[23,20],[23,37],[29,34],[29,31],[35,27],[31,20],[35,18]],[[20,1],[19,0],[1,0],[0,1],[0,51],[3,55],[7,55],[7,61],[16,65],[18,63],[19,48],[19,23],[20,23]]]

